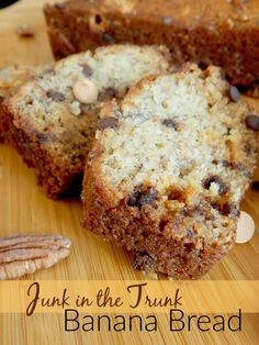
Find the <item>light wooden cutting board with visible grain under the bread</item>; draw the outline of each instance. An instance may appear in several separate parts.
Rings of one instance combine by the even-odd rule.
[[[10,64],[46,64],[53,60],[47,41],[42,5],[45,0],[24,0],[0,10],[0,67]],[[54,1],[49,1],[54,2]],[[21,38],[15,29],[30,24],[33,38]],[[259,101],[249,100],[259,110]],[[259,169],[255,179],[259,180]],[[259,227],[259,193],[248,190],[241,209],[249,212]],[[125,279],[148,280],[135,271],[121,248],[97,238],[80,226],[79,199],[48,200],[36,186],[34,171],[8,145],[0,144],[0,236],[12,233],[57,233],[69,237],[69,258],[50,269],[26,279]],[[100,255],[101,253],[101,255]],[[165,279],[165,278],[164,278]],[[203,279],[259,279],[259,229],[251,242],[236,245],[232,253]],[[159,283],[159,282],[158,282]],[[0,297],[1,298],[1,297]],[[162,318],[162,316],[161,316]],[[246,315],[241,334],[209,335],[181,333],[173,337],[162,326],[156,334],[65,333],[61,315],[37,314],[30,319],[21,314],[0,314],[1,344],[256,344],[259,340],[258,315]],[[1,341],[2,337],[2,341]]]

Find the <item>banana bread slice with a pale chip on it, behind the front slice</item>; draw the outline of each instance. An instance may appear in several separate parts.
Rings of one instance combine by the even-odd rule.
[[[82,177],[94,137],[99,104],[124,92],[143,77],[169,70],[164,47],[114,45],[70,56],[22,85],[3,102],[0,122],[5,138],[29,166],[40,185],[57,198]],[[72,87],[91,80],[99,97],[80,103]],[[76,183],[75,183],[76,185]]]

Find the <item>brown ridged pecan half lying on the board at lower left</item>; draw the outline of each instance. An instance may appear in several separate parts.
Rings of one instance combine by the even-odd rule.
[[[15,279],[55,265],[68,256],[70,241],[59,235],[0,238],[0,280]]]

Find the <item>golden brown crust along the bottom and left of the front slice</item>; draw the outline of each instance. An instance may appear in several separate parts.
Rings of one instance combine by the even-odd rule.
[[[117,203],[115,192],[102,185],[100,154],[101,147],[95,147],[83,177],[83,227],[125,247],[135,268],[174,279],[198,279],[232,248],[235,215],[224,236],[207,242],[205,237],[185,235],[187,214],[161,220],[156,207],[139,210],[130,207],[126,199]],[[189,210],[190,218],[205,211]]]

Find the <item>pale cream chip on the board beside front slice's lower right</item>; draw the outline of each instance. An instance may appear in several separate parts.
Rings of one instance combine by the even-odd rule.
[[[240,212],[237,223],[236,243],[247,243],[255,233],[254,219],[246,212]]]

